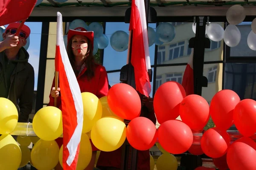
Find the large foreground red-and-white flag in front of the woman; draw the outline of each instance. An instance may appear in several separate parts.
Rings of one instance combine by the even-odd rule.
[[[57,13],[55,71],[59,74],[63,119],[63,169],[76,170],[83,128],[83,102],[79,84],[64,45],[62,15]]]

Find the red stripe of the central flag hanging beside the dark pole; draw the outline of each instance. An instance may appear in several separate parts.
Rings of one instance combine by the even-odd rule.
[[[140,12],[142,11],[137,8],[135,2],[136,0],[132,1],[129,26],[129,30],[132,30],[131,64],[134,66],[136,90],[139,91],[140,94],[149,96],[151,85],[145,58],[145,50],[148,50],[148,48],[145,49],[143,40],[143,29],[140,18]]]

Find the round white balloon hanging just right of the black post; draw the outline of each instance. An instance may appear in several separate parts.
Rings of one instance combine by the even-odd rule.
[[[212,41],[221,41],[224,36],[224,28],[216,23],[211,23],[207,26],[207,35]]]

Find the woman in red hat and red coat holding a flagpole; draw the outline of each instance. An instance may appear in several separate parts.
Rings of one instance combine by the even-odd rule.
[[[81,93],[90,92],[98,98],[108,94],[108,75],[102,65],[94,62],[93,57],[93,31],[86,31],[84,28],[69,30],[67,34],[67,54],[73,71],[76,74]],[[54,98],[58,97],[57,107],[61,109],[61,89],[55,90],[55,81],[53,80],[51,94],[49,96],[50,106],[54,106]],[[63,138],[56,139],[59,147],[63,144]],[[91,142],[91,141],[90,141]],[[91,142],[93,156],[90,164],[85,170],[92,170],[96,159],[96,150]],[[55,170],[61,170],[60,164]]]

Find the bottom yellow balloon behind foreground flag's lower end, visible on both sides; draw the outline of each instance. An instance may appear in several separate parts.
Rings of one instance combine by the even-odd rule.
[[[90,139],[87,136],[87,134],[82,133],[76,170],[84,170],[90,163],[90,160],[92,159],[92,154],[93,154],[93,151],[92,151],[92,146],[90,144]],[[63,145],[61,146],[61,149],[59,152],[59,161],[60,161],[61,167],[63,167],[62,159],[63,159]]]

